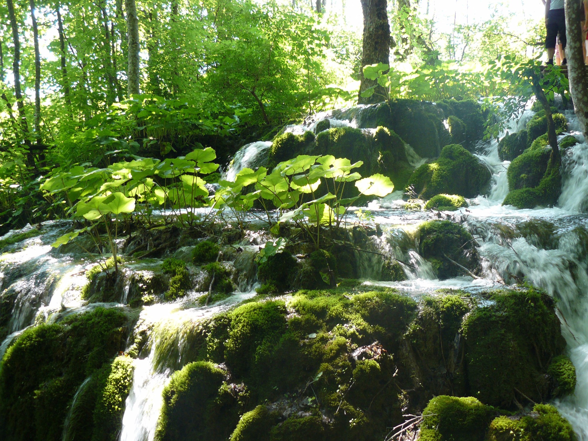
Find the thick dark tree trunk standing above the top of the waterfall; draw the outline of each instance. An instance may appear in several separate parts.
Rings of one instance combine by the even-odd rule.
[[[390,63],[390,25],[386,11],[387,0],[361,0],[363,9],[363,66],[370,64]],[[369,98],[363,98],[361,93],[376,85],[375,93]],[[371,104],[384,101],[386,91],[377,82],[363,77],[359,86],[359,104]]]

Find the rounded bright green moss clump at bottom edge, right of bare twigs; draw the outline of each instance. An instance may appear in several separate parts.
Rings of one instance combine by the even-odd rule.
[[[474,397],[436,396],[423,410],[419,439],[482,441],[491,412]]]

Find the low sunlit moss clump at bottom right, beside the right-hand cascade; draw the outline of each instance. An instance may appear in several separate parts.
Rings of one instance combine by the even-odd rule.
[[[530,415],[496,417],[488,430],[487,441],[576,441],[576,434],[552,405],[538,404]]]

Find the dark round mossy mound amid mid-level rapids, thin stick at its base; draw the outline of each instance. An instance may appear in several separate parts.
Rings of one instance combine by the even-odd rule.
[[[423,222],[417,230],[417,243],[420,255],[432,263],[440,279],[463,275],[463,269],[451,260],[472,272],[477,269],[475,242],[459,223],[449,220]]]

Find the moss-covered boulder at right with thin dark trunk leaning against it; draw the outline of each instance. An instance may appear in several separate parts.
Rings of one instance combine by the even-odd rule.
[[[515,158],[506,175],[510,192],[503,205],[517,208],[553,205],[561,193],[560,162],[552,162],[547,135],[539,136],[522,155]]]

